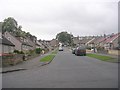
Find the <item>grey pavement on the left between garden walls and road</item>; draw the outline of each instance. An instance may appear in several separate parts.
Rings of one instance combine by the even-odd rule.
[[[51,52],[49,52],[49,53],[51,53]],[[46,65],[49,62],[48,63],[40,62],[40,58],[48,55],[49,53],[44,54],[44,55],[40,55],[38,57],[35,57],[35,58],[27,60],[27,61],[23,61],[22,63],[19,63],[19,64],[14,65],[14,66],[4,67],[4,68],[2,68],[0,73],[8,73],[8,72],[14,72],[14,71],[33,69],[33,68],[37,68],[37,67]]]

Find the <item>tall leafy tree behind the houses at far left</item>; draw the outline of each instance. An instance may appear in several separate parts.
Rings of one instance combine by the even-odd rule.
[[[14,33],[17,30],[17,25],[17,21],[14,18],[8,17],[2,24],[2,32],[8,31]]]

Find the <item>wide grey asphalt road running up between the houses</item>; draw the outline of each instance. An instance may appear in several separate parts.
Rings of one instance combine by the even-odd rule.
[[[67,48],[46,66],[3,74],[3,88],[117,88],[118,64],[75,56]]]

